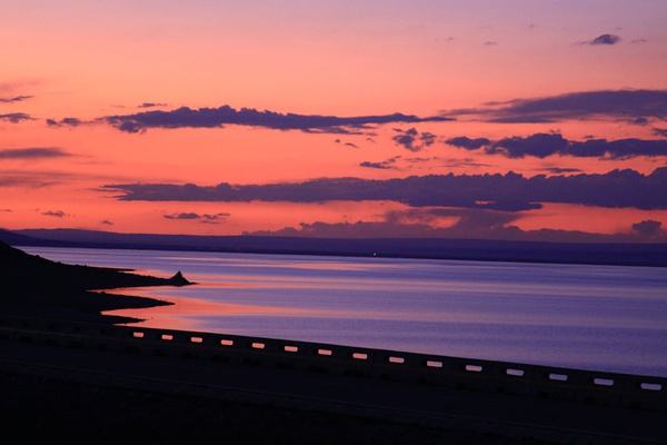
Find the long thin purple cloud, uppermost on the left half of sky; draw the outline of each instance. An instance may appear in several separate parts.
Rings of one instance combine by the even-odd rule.
[[[117,115],[102,118],[121,131],[140,132],[149,128],[218,128],[223,125],[240,125],[271,128],[277,130],[300,130],[307,132],[359,134],[369,126],[391,122],[447,121],[451,118],[431,116],[420,118],[411,115],[394,113],[380,116],[319,116],[260,111],[253,108],[191,109],[181,107],[170,111],[155,110],[135,115]]]

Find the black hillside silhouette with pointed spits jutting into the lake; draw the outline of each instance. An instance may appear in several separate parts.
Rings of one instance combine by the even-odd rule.
[[[127,270],[51,261],[0,241],[0,304],[4,314],[101,320],[101,310],[167,305],[150,298],[91,291],[138,286],[186,286],[180,271],[171,278]]]

